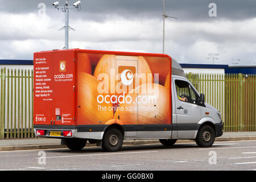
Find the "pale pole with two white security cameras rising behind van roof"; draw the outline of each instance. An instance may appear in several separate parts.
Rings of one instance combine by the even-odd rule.
[[[66,0],[66,3],[63,7],[59,7],[59,2],[55,2],[52,5],[55,6],[55,8],[59,11],[59,9],[61,9],[61,11],[63,11],[65,13],[65,26],[60,28],[59,30],[63,30],[65,29],[65,47],[64,49],[68,49],[68,31],[69,29],[74,30],[73,28],[69,27],[69,9],[73,9],[76,8],[77,10],[81,10],[81,5],[80,5],[81,1],[77,1],[75,3],[73,3],[73,6],[68,6],[68,0]]]

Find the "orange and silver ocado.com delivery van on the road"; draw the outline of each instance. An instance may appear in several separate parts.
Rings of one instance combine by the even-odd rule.
[[[71,150],[118,151],[125,139],[212,146],[220,112],[168,55],[83,49],[34,53],[34,132]]]

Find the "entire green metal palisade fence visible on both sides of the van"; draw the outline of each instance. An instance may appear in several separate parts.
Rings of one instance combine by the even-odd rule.
[[[0,72],[0,139],[35,138],[33,70]],[[188,73],[205,101],[220,110],[224,131],[256,131],[256,75]]]

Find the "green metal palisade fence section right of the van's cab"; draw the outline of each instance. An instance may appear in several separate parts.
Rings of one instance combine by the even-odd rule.
[[[221,112],[224,131],[256,131],[256,75],[188,73],[187,77]]]

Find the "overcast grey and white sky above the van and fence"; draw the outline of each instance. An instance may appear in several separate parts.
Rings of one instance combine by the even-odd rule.
[[[64,13],[53,1],[0,0],[0,59],[64,47]],[[70,10],[69,48],[162,53],[163,0],[81,1],[81,11]],[[166,0],[166,14],[178,19],[166,19],[165,53],[179,63],[212,64],[208,54],[217,53],[215,64],[256,65],[255,0]]]

